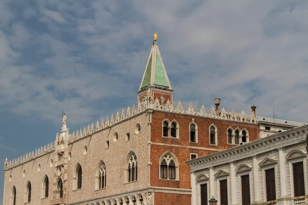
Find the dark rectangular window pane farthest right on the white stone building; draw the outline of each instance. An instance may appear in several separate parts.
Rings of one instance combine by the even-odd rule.
[[[305,195],[305,178],[303,162],[292,163],[293,166],[293,186],[294,196]]]

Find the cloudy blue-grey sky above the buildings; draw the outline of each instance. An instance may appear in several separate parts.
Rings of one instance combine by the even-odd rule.
[[[137,103],[153,33],[174,97],[307,122],[308,1],[0,0],[0,159]],[[0,187],[4,175],[0,172]],[[2,201],[2,194],[0,200]]]

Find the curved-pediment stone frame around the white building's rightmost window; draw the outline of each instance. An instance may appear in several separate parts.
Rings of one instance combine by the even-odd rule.
[[[294,156],[294,154],[297,153],[297,156]],[[294,197],[294,179],[293,179],[293,163],[296,162],[303,162],[303,169],[304,169],[304,185],[305,185],[305,195],[307,192],[307,170],[306,170],[306,153],[302,150],[296,149],[288,152],[285,155],[285,159],[288,162],[289,165],[289,173],[290,173],[290,187],[291,187],[291,197]]]

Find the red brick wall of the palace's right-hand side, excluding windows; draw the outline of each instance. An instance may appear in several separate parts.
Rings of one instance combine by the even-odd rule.
[[[179,124],[179,138],[163,137],[162,124],[164,119],[177,120]],[[193,121],[198,126],[198,143],[189,141],[189,124]],[[217,145],[210,145],[209,127],[214,124],[217,127]],[[185,161],[190,159],[190,153],[198,154],[198,157],[215,153],[237,145],[227,144],[227,129],[246,129],[249,141],[259,138],[257,124],[200,117],[179,113],[153,111],[151,124],[151,187],[165,187],[190,189],[190,167]],[[179,180],[160,179],[160,158],[165,152],[171,152],[179,161]],[[168,200],[168,197],[170,200]],[[183,202],[182,201],[183,198]],[[189,199],[189,200],[188,200]],[[176,201],[173,201],[176,200]],[[155,204],[190,204],[190,195],[156,193]]]

